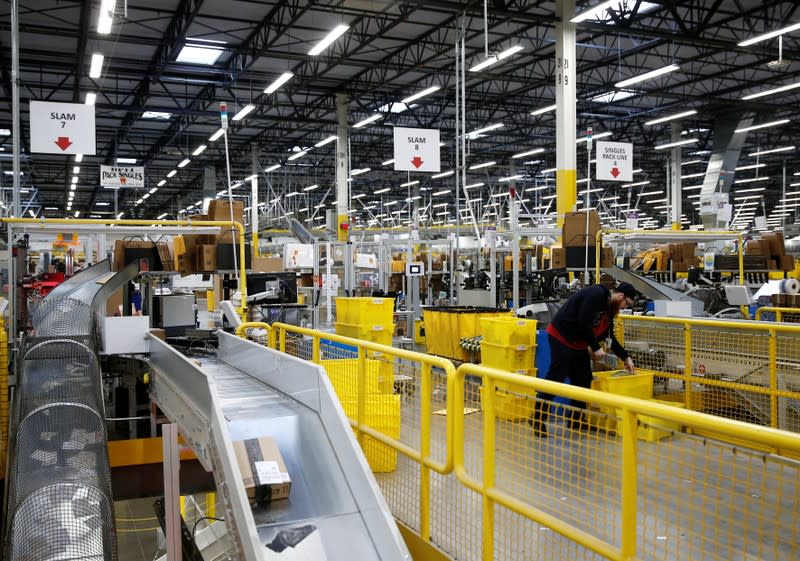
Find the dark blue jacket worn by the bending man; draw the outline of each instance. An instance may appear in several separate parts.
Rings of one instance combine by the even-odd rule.
[[[575,350],[600,348],[600,340],[611,335],[611,351],[621,360],[628,353],[614,337],[611,291],[605,286],[588,286],[573,294],[547,327],[559,342]]]

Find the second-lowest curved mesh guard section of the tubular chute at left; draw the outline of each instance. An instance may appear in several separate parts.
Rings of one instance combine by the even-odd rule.
[[[9,512],[54,481],[86,484],[111,500],[105,423],[93,409],[57,403],[19,424],[9,477]]]

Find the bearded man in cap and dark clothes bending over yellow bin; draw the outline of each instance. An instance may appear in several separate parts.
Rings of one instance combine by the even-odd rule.
[[[564,383],[567,378],[572,385],[589,388],[592,385],[591,359],[606,360],[606,351],[600,340],[611,340],[611,351],[625,364],[625,370],[635,372],[633,360],[625,348],[614,337],[614,317],[625,307],[631,307],[636,299],[636,289],[621,282],[613,290],[602,285],[586,287],[573,294],[553,317],[547,327],[550,342],[550,369],[546,380]],[[547,416],[553,394],[539,392],[530,423],[536,436],[547,437]],[[580,430],[586,425],[583,409],[586,403],[570,400],[573,409],[566,413],[567,426]]]

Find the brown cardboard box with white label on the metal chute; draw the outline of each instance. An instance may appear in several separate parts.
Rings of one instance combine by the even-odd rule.
[[[292,480],[274,439],[262,436],[237,440],[233,451],[251,504],[289,497]]]

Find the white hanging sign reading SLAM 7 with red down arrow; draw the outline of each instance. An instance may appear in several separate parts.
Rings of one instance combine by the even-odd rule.
[[[95,154],[94,105],[31,101],[31,152]]]

